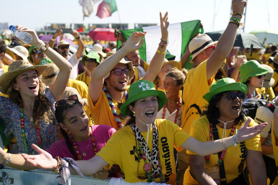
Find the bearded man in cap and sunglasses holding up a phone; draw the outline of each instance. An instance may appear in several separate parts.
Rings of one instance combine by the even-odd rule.
[[[53,35],[53,37],[51,38],[51,40],[49,42],[49,47],[53,48],[56,37],[60,36],[62,34],[63,34],[63,30],[61,28],[57,29],[55,34]],[[70,55],[69,54],[69,45],[70,44],[69,44],[69,42],[67,42],[65,40],[61,40],[58,43],[57,50],[60,55],[62,55],[65,59],[67,59],[67,61],[69,61],[70,64],[72,64],[72,71],[70,72],[69,78],[76,79],[76,77],[78,75],[78,63],[79,63],[78,59],[82,56],[82,52],[83,52],[85,45],[84,45],[83,41],[81,40],[79,33],[75,29],[72,29],[71,34],[75,37],[75,39],[77,41],[77,44],[78,44],[77,52]]]

